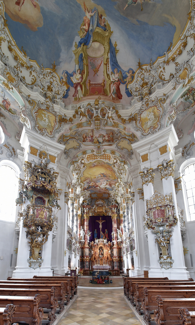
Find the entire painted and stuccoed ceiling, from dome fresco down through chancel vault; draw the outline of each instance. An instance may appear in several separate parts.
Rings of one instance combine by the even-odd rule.
[[[128,169],[137,165],[133,144],[170,123],[182,159],[188,156],[195,147],[190,0],[3,2],[7,21],[0,44],[0,125],[6,130],[14,121],[16,141],[26,124],[64,145],[60,163],[72,171],[74,192],[110,204],[118,196],[120,202],[128,193]],[[86,41],[86,13],[91,14],[90,24],[98,20],[87,49],[81,45]],[[98,32],[102,43],[95,38]],[[109,48],[124,78],[120,90],[116,88],[117,98],[112,94],[115,66]],[[84,75],[82,94],[73,98],[76,82],[70,80],[76,64]],[[104,94],[92,91],[90,80]]]

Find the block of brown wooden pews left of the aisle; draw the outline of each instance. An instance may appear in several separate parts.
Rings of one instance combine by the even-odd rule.
[[[51,325],[77,294],[77,283],[77,276],[0,280],[0,325]]]

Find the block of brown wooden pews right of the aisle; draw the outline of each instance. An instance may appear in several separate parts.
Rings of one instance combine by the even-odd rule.
[[[124,295],[147,325],[195,325],[195,281],[124,278]]]

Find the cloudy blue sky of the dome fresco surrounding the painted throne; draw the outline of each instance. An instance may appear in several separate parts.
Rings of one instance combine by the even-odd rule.
[[[8,28],[21,49],[45,68],[55,61],[57,73],[75,69],[75,42],[79,42],[85,8],[96,8],[103,26],[108,22],[117,43],[122,69],[136,71],[137,62],[154,62],[175,44],[188,20],[188,0],[112,1],[86,0],[6,0]],[[19,5],[21,3],[21,6]],[[125,8],[125,10],[124,10]],[[90,18],[91,19],[91,18]],[[104,20],[105,19],[105,20]],[[103,20],[103,21],[102,21]],[[101,26],[102,26],[101,25]],[[85,26],[84,26],[85,28]],[[85,31],[85,29],[83,29]]]

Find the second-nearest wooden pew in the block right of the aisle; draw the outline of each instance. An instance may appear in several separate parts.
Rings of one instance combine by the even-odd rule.
[[[194,311],[195,298],[163,298],[156,296],[158,309],[154,310],[154,320],[157,325],[181,325],[179,308]]]

